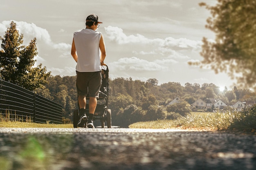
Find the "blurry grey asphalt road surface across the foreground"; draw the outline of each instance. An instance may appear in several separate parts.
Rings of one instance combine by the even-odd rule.
[[[256,170],[256,135],[0,128],[0,170]]]

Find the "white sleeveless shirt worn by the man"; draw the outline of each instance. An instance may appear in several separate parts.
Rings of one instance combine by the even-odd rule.
[[[101,33],[92,29],[83,29],[74,32],[74,42],[78,56],[76,71],[101,71],[101,61],[99,56],[100,39]]]

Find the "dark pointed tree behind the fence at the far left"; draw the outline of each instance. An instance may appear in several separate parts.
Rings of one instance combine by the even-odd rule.
[[[34,57],[38,54],[36,38],[31,40],[27,46],[23,46],[23,34],[19,34],[16,23],[12,21],[0,40],[2,41],[0,77],[31,91],[44,87],[51,73],[47,73],[46,68],[42,68],[42,64],[34,67],[36,62]]]

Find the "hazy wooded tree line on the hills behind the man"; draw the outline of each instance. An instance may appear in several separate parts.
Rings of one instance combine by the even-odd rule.
[[[63,106],[63,117],[70,119],[77,107],[76,76],[60,75],[47,78],[45,88],[37,88],[37,94],[60,103]],[[109,79],[108,108],[112,110],[112,124],[127,127],[138,121],[153,121],[158,119],[175,119],[190,113],[189,105],[196,99],[221,99],[227,105],[237,101],[256,101],[256,95],[249,89],[220,91],[220,87],[213,83],[202,85],[186,83],[182,86],[178,82],[168,82],[158,85],[157,79],[146,82],[132,80],[132,78],[118,77]],[[176,97],[181,102],[173,106],[166,105]]]

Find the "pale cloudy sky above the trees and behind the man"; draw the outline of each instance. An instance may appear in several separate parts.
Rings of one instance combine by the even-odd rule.
[[[189,66],[199,61],[202,38],[214,39],[205,29],[209,11],[200,2],[217,0],[1,0],[0,36],[10,26],[24,34],[24,45],[37,38],[37,65],[52,75],[75,75],[76,62],[70,55],[74,31],[85,27],[91,13],[103,22],[110,78],[156,78],[167,82],[214,83],[232,88],[225,74]]]

